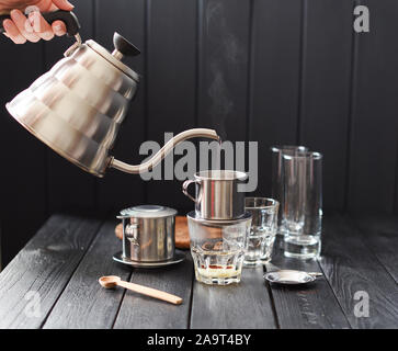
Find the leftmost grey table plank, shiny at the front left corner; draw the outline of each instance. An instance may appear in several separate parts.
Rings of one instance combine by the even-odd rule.
[[[100,225],[66,215],[47,220],[0,274],[0,328],[42,326]]]

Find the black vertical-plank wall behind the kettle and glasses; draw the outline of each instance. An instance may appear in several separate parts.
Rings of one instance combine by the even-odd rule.
[[[371,32],[353,31],[366,4]],[[144,140],[214,127],[258,140],[270,194],[274,144],[325,154],[325,207],[396,212],[397,0],[75,0],[82,36],[112,48],[118,31],[143,49],[127,64],[140,90],[114,155],[139,162]],[[1,38],[0,104],[61,58],[68,38],[16,46]],[[105,215],[138,203],[192,207],[174,181],[110,170],[95,179],[54,154],[0,109],[1,246],[8,262],[54,212]]]

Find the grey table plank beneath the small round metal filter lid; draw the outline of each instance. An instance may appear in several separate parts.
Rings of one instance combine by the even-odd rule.
[[[331,238],[326,238],[331,239]],[[321,272],[317,260],[297,260],[283,256],[282,238],[277,236],[277,248],[271,263],[278,269]],[[275,268],[266,265],[268,271]],[[325,278],[308,285],[283,286],[270,284],[271,294],[282,329],[334,329],[350,328],[339,303]]]

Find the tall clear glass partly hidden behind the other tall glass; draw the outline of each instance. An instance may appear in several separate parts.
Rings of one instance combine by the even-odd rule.
[[[271,147],[272,152],[272,166],[271,166],[271,196],[280,202],[281,208],[284,206],[284,181],[283,181],[283,155],[299,155],[307,152],[308,148],[305,146],[294,145],[281,145]],[[282,211],[277,215],[277,234],[284,234],[281,231],[282,227]]]

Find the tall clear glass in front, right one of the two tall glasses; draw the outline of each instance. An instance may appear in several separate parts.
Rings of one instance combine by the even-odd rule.
[[[317,258],[322,225],[322,155],[283,155],[282,172],[284,254],[300,259]]]

